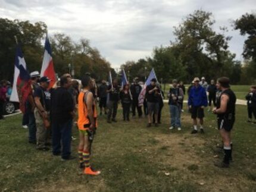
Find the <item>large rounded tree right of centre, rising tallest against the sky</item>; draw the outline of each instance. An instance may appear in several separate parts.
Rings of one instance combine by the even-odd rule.
[[[207,78],[217,77],[227,56],[230,56],[227,48],[231,37],[214,32],[214,23],[211,12],[196,10],[178,27],[174,27],[176,40],[171,42],[171,46],[176,49],[176,58],[182,59],[186,66],[187,81],[202,75]],[[227,32],[225,27],[221,30]]]

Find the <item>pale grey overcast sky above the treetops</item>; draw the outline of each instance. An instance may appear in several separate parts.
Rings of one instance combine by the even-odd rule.
[[[0,0],[0,17],[43,21],[50,35],[86,37],[112,67],[151,56],[154,46],[168,45],[174,40],[173,26],[198,9],[213,12],[214,29],[229,28],[230,51],[242,59],[245,37],[232,29],[231,21],[255,12],[255,0]]]

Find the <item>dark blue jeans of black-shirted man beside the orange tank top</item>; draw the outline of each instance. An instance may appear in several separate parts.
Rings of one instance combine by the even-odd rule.
[[[52,153],[54,155],[61,153],[61,157],[64,159],[71,154],[72,122],[72,119],[70,119],[63,124],[52,123]]]

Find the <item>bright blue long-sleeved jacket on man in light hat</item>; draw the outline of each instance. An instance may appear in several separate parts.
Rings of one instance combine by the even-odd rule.
[[[191,88],[191,91],[189,93],[188,105],[192,105],[192,106],[208,105],[207,95],[204,87],[199,85],[199,87],[197,88],[195,86]]]

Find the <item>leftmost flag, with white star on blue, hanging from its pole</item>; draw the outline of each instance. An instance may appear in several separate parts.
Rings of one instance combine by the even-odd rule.
[[[17,45],[15,54],[15,67],[14,67],[14,81],[13,91],[10,100],[13,102],[20,102],[20,110],[25,112],[25,103],[27,97],[32,92],[30,74],[26,70],[26,62],[20,46]]]

